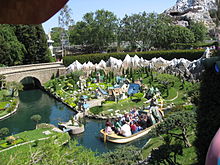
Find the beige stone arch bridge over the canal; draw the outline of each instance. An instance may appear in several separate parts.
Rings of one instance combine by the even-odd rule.
[[[65,73],[66,68],[61,62],[0,67],[0,74],[4,75],[8,82],[21,82],[24,78],[32,77],[43,84],[49,81],[52,76],[60,76]]]

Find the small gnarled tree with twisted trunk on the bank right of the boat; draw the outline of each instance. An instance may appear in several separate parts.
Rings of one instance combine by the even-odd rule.
[[[188,139],[189,130],[195,127],[195,112],[180,111],[167,117],[162,123],[156,127],[157,135],[167,134],[177,140],[181,140],[186,147],[190,147],[191,143]],[[180,133],[174,133],[173,129],[177,129]]]

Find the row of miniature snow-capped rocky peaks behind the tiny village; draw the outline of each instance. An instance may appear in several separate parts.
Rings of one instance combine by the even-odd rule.
[[[204,57],[208,57],[208,50],[204,53]],[[90,61],[88,63],[80,64],[78,61],[73,62],[67,70],[69,72],[76,70],[84,70],[91,72],[93,69],[106,69],[110,67],[111,69],[121,69],[128,67],[148,67],[154,69],[160,73],[168,73],[173,75],[180,75],[187,80],[195,81],[200,79],[201,73],[204,71],[202,65],[203,58],[189,61],[184,58],[172,59],[171,61],[165,60],[161,57],[153,58],[150,61],[143,58],[139,58],[137,55],[130,57],[126,55],[125,59],[118,60],[116,58],[110,57],[107,62],[101,60],[99,64],[92,64]],[[80,90],[79,90],[80,91]],[[74,92],[75,94],[75,92]]]

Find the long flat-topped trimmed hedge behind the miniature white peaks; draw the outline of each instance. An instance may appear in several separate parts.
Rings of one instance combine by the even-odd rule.
[[[78,60],[80,63],[91,61],[93,64],[99,63],[101,60],[107,61],[110,57],[123,60],[127,54],[130,56],[137,55],[146,60],[151,60],[154,57],[162,57],[166,60],[174,58],[185,58],[190,61],[199,59],[204,53],[204,50],[163,50],[163,51],[147,51],[147,52],[129,52],[129,53],[99,53],[99,54],[84,54],[78,56],[66,56],[63,58],[65,66],[69,66],[74,61]]]

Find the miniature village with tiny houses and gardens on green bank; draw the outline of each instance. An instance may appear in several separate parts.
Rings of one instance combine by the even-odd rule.
[[[45,89],[62,102],[84,112],[87,117],[116,118],[131,108],[147,110],[155,98],[163,109],[175,104],[192,106],[191,94],[197,84],[180,77],[154,72],[149,68],[122,69],[118,72],[75,71],[47,82]]]

